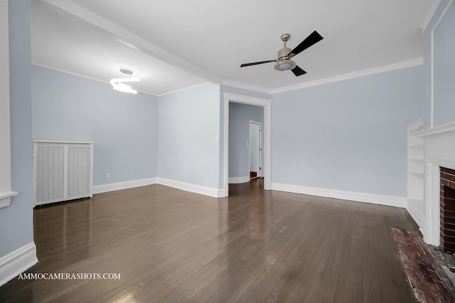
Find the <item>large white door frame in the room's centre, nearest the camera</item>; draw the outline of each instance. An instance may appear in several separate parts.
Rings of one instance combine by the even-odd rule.
[[[272,158],[270,156],[271,150],[271,131],[272,131],[272,100],[270,99],[261,99],[255,97],[248,97],[241,94],[231,94],[228,92],[223,93],[224,95],[224,153],[223,153],[223,184],[224,188],[220,190],[220,197],[228,197],[229,195],[229,102],[241,103],[241,104],[250,104],[255,106],[261,106],[264,108],[264,167],[262,167],[262,172],[264,174],[264,189],[272,189]]]

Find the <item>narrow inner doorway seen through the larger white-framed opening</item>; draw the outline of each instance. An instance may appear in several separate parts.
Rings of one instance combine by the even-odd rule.
[[[261,177],[261,134],[262,123],[250,120],[250,180]]]

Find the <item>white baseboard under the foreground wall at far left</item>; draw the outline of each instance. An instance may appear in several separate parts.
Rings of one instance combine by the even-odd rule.
[[[0,286],[38,263],[36,246],[31,242],[0,258]]]

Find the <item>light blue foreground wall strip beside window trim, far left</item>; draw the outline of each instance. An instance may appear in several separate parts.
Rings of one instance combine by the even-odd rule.
[[[11,189],[0,209],[0,258],[33,242],[30,4],[9,1]]]

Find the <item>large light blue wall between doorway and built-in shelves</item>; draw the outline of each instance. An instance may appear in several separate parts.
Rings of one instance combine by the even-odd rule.
[[[406,196],[406,126],[423,115],[424,68],[274,95],[272,182]]]

